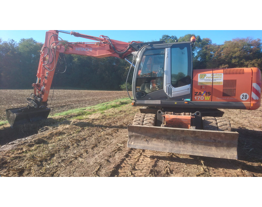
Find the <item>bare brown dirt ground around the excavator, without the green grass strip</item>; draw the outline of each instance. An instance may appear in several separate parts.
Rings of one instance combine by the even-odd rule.
[[[24,104],[28,92],[0,90],[0,120],[6,108]],[[55,90],[51,114],[122,97],[127,92]],[[84,119],[0,126],[0,176],[262,177],[262,108],[221,110],[239,133],[238,160],[128,148],[127,126],[139,108],[124,104]]]

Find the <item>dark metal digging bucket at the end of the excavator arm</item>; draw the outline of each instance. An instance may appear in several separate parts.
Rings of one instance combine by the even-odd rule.
[[[40,121],[47,119],[50,108],[10,108],[6,109],[6,117],[10,126],[13,128],[17,125]]]

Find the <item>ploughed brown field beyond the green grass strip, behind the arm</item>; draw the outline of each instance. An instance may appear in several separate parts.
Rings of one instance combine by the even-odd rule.
[[[6,120],[5,109],[26,106],[27,97],[34,90],[0,90],[0,121]],[[50,90],[50,115],[127,97],[126,91]],[[53,98],[52,98],[53,97]]]

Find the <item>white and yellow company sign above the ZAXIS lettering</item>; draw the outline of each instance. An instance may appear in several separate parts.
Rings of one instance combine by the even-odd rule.
[[[198,85],[223,85],[223,73],[198,74]]]

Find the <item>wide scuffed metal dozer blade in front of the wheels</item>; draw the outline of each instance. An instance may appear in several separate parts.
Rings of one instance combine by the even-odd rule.
[[[128,131],[131,148],[237,159],[237,132],[139,125],[128,126]]]

